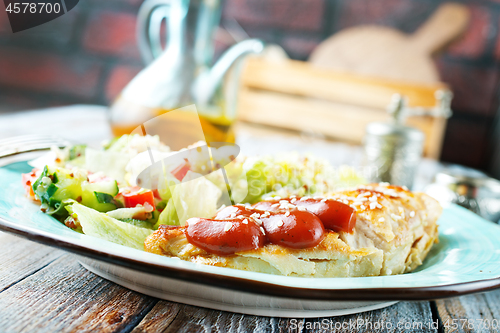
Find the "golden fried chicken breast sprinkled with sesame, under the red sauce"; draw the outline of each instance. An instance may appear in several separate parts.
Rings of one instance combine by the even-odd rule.
[[[194,263],[299,277],[360,277],[410,272],[437,241],[439,204],[423,193],[367,185],[332,193],[356,210],[352,233],[327,230],[311,248],[276,244],[233,255],[209,253],[186,238],[184,228],[160,226],[145,241],[147,252]]]

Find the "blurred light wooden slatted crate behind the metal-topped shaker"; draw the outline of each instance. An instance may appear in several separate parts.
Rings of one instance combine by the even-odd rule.
[[[368,123],[389,120],[387,105],[399,93],[407,97],[409,112],[421,113],[408,117],[407,124],[426,134],[424,154],[438,159],[449,101],[440,102],[437,92],[449,90],[440,82],[394,82],[319,69],[301,61],[255,57],[243,69],[238,118],[362,143]]]

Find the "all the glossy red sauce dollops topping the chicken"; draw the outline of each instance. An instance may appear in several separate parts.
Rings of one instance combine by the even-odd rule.
[[[355,210],[341,202],[287,198],[225,207],[213,219],[191,218],[185,234],[191,244],[210,253],[230,255],[265,243],[314,247],[323,240],[325,228],[352,232],[355,223]]]

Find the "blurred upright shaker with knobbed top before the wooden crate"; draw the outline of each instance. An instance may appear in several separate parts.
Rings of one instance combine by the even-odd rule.
[[[425,135],[404,125],[406,100],[394,95],[388,107],[390,122],[367,125],[364,137],[365,165],[371,182],[388,182],[411,188],[422,157]]]

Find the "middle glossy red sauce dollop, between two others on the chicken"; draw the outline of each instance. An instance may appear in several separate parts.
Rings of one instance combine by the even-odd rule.
[[[261,217],[262,226],[271,243],[294,249],[318,245],[325,235],[321,220],[307,211],[292,210]]]

